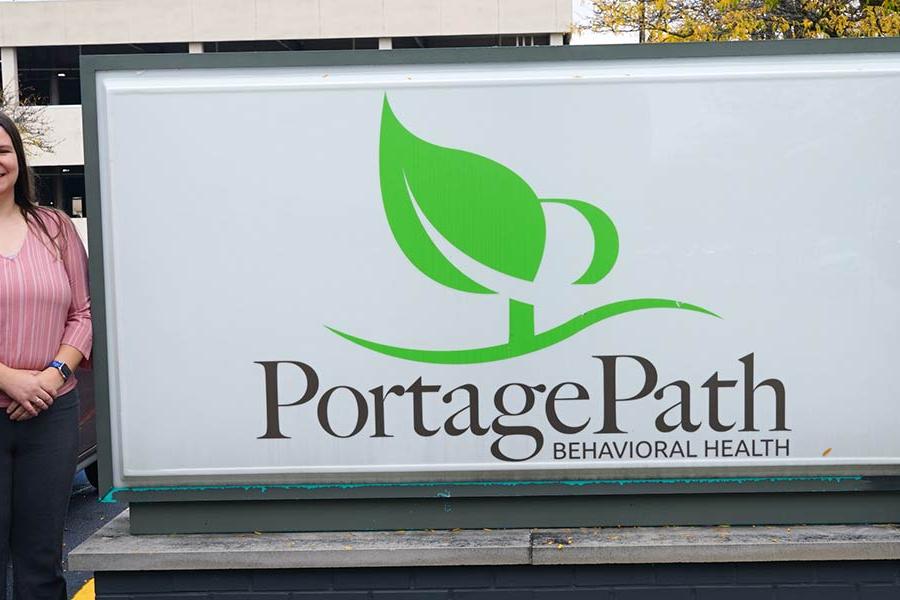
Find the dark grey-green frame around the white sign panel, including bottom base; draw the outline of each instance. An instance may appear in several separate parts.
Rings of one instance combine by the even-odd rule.
[[[131,504],[134,533],[480,527],[877,523],[900,521],[896,469],[835,468],[787,476],[541,481],[259,483],[112,486],[97,75],[149,69],[547,62],[900,53],[900,38],[528,48],[83,56],[81,90],[89,220],[101,497]],[[793,469],[795,472],[802,469]]]

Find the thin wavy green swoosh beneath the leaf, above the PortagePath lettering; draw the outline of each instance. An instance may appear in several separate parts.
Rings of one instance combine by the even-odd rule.
[[[690,310],[710,315],[717,319],[721,318],[716,313],[701,306],[688,304],[686,302],[678,302],[677,300],[665,300],[661,298],[621,300],[619,302],[613,302],[591,309],[586,313],[566,321],[562,325],[558,325],[536,335],[516,337],[513,341],[506,344],[500,344],[499,346],[486,346],[484,348],[472,348],[470,350],[419,350],[415,348],[399,348],[397,346],[388,346],[371,340],[365,340],[334,329],[333,327],[328,327],[327,325],[326,327],[329,331],[336,333],[354,344],[388,356],[414,362],[464,365],[493,362],[530,354],[531,352],[536,352],[537,350],[542,350],[554,344],[558,344],[559,342],[572,337],[576,333],[587,329],[591,325],[609,319],[610,317],[648,308]]]

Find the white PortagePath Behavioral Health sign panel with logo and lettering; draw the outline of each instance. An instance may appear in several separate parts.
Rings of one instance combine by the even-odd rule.
[[[116,486],[900,465],[896,54],[96,92]]]

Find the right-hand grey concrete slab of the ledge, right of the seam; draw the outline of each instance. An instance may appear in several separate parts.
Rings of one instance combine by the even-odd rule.
[[[538,530],[532,548],[533,564],[542,565],[898,558],[897,525]]]

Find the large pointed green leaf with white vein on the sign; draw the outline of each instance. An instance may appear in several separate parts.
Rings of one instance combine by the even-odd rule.
[[[388,224],[406,257],[448,287],[493,293],[463,274],[428,237],[418,211],[455,248],[479,263],[533,281],[546,239],[544,213],[531,187],[500,163],[426,142],[394,116],[381,116],[381,195]]]

